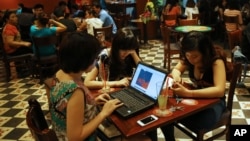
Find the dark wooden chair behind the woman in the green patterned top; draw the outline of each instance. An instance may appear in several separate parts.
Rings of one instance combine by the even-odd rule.
[[[26,123],[36,141],[58,141],[54,130],[49,129],[40,104],[36,99],[29,99]]]

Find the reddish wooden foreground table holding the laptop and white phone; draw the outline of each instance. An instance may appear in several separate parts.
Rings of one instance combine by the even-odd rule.
[[[198,104],[197,105],[184,105],[182,103],[179,103],[178,106],[184,106],[184,111],[175,111],[171,116],[168,117],[159,117],[159,119],[147,126],[141,127],[137,124],[137,120],[142,119],[148,115],[153,114],[153,110],[157,108],[155,106],[154,108],[151,108],[145,112],[142,112],[141,114],[138,114],[134,117],[123,119],[122,117],[118,116],[117,114],[112,114],[110,116],[110,119],[113,121],[113,123],[116,125],[116,127],[121,131],[121,133],[125,137],[131,137],[138,134],[146,133],[150,130],[157,129],[158,127],[161,127],[163,125],[167,125],[170,123],[175,122],[176,120],[183,119],[187,116],[193,115],[199,111],[202,111],[220,101],[220,99],[197,99]],[[168,108],[171,105],[175,105],[176,100],[174,98],[169,98],[168,101]]]

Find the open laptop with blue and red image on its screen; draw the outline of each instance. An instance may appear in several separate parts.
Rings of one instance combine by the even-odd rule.
[[[118,98],[124,103],[115,112],[126,118],[154,106],[160,93],[156,90],[156,83],[160,82],[163,86],[167,74],[162,69],[140,62],[130,85],[110,93],[112,98]]]

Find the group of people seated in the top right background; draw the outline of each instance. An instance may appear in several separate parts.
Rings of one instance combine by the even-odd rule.
[[[241,3],[238,0],[183,0],[181,3],[179,0],[169,0],[162,11],[162,14],[177,15],[178,18],[185,19],[194,19],[192,15],[199,14],[200,24],[215,28],[212,37],[221,40],[224,39],[225,31],[244,30],[249,23],[249,13],[249,1]],[[225,23],[224,15],[238,16],[237,24]]]

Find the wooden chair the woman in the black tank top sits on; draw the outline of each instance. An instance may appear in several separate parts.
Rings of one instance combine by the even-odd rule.
[[[230,125],[231,125],[231,119],[232,119],[233,96],[234,96],[237,79],[241,72],[240,70],[241,70],[240,63],[233,65],[233,72],[232,72],[232,76],[230,79],[229,92],[227,96],[226,110],[223,112],[220,120],[211,129],[208,129],[208,130],[207,129],[202,129],[202,130],[191,129],[190,127],[187,127],[187,126],[186,127],[181,126],[180,123],[178,122],[177,124],[175,124],[175,126],[181,131],[183,131],[186,135],[188,135],[189,137],[197,141],[203,141],[204,140],[203,136],[205,133],[218,129],[222,126],[225,126],[224,129],[222,129],[217,134],[213,134],[210,138],[206,139],[206,141],[212,141],[218,137],[223,136],[224,134],[226,134],[226,140],[229,141]],[[193,135],[190,131],[195,133],[196,136]]]

